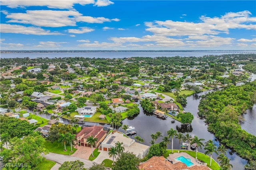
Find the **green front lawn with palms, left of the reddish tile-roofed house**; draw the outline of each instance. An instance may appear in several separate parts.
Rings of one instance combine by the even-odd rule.
[[[49,152],[65,154],[65,155],[72,155],[77,150],[74,147],[72,147],[73,152],[70,152],[71,151],[70,145],[66,144],[67,151],[64,151],[64,145],[58,141],[54,141],[53,143],[46,141],[44,143],[44,146]]]

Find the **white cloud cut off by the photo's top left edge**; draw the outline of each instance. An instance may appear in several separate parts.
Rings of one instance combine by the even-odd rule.
[[[72,9],[74,4],[94,4],[94,0],[1,0],[1,5],[6,5],[9,8],[47,6],[48,8]]]

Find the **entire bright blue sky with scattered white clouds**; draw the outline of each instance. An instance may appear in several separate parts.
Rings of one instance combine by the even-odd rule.
[[[1,0],[2,50],[256,50],[256,1]]]

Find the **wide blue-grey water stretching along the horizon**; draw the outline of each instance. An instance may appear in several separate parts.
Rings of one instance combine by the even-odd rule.
[[[161,51],[118,51],[118,52],[78,52],[78,53],[1,53],[1,58],[24,58],[29,57],[30,59],[42,57],[42,58],[63,58],[63,57],[85,57],[85,58],[129,58],[129,57],[203,57],[204,55],[222,55],[222,54],[245,54],[254,53],[256,51],[171,51],[171,52],[161,52]]]

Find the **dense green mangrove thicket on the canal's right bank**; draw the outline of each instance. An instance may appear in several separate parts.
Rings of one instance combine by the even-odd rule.
[[[241,129],[239,122],[243,121],[241,114],[255,103],[256,81],[253,81],[208,93],[198,106],[198,115],[206,119],[208,131],[251,164],[256,160],[256,137]]]

